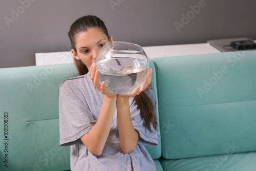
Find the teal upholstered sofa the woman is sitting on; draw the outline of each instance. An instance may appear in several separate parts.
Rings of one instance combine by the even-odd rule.
[[[256,170],[256,51],[150,59],[157,170]],[[0,170],[69,170],[58,91],[73,64],[0,69]]]

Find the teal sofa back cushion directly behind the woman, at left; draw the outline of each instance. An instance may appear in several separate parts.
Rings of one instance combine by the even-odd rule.
[[[152,84],[158,104],[151,59],[150,67],[154,70]],[[6,142],[0,143],[0,158],[7,155],[4,160],[8,169],[70,169],[70,147],[59,145],[58,95],[60,84],[76,75],[73,63],[0,69],[0,137]],[[158,105],[156,111],[159,118]],[[153,159],[161,156],[159,127],[159,145],[146,146]]]

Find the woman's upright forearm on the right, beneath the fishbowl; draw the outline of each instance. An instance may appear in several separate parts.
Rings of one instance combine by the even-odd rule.
[[[136,147],[139,136],[132,123],[129,98],[117,95],[116,105],[120,146],[123,153],[130,153]]]

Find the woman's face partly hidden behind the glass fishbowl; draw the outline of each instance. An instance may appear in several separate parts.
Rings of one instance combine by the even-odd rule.
[[[112,36],[110,36],[110,41],[113,41]],[[109,42],[109,37],[98,28],[90,28],[87,32],[77,34],[75,42],[77,52],[74,49],[71,52],[77,60],[81,60],[90,70],[99,51]]]

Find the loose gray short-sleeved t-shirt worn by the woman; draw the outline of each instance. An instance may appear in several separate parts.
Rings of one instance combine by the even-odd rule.
[[[150,89],[154,100],[153,88],[148,86],[147,89]],[[139,140],[132,152],[122,153],[116,110],[109,137],[100,156],[90,153],[81,142],[80,138],[90,131],[98,119],[103,97],[94,87],[89,74],[70,78],[60,86],[60,145],[71,145],[71,170],[156,170],[144,145],[157,145],[157,133],[146,129],[133,97],[129,98],[130,111]]]

